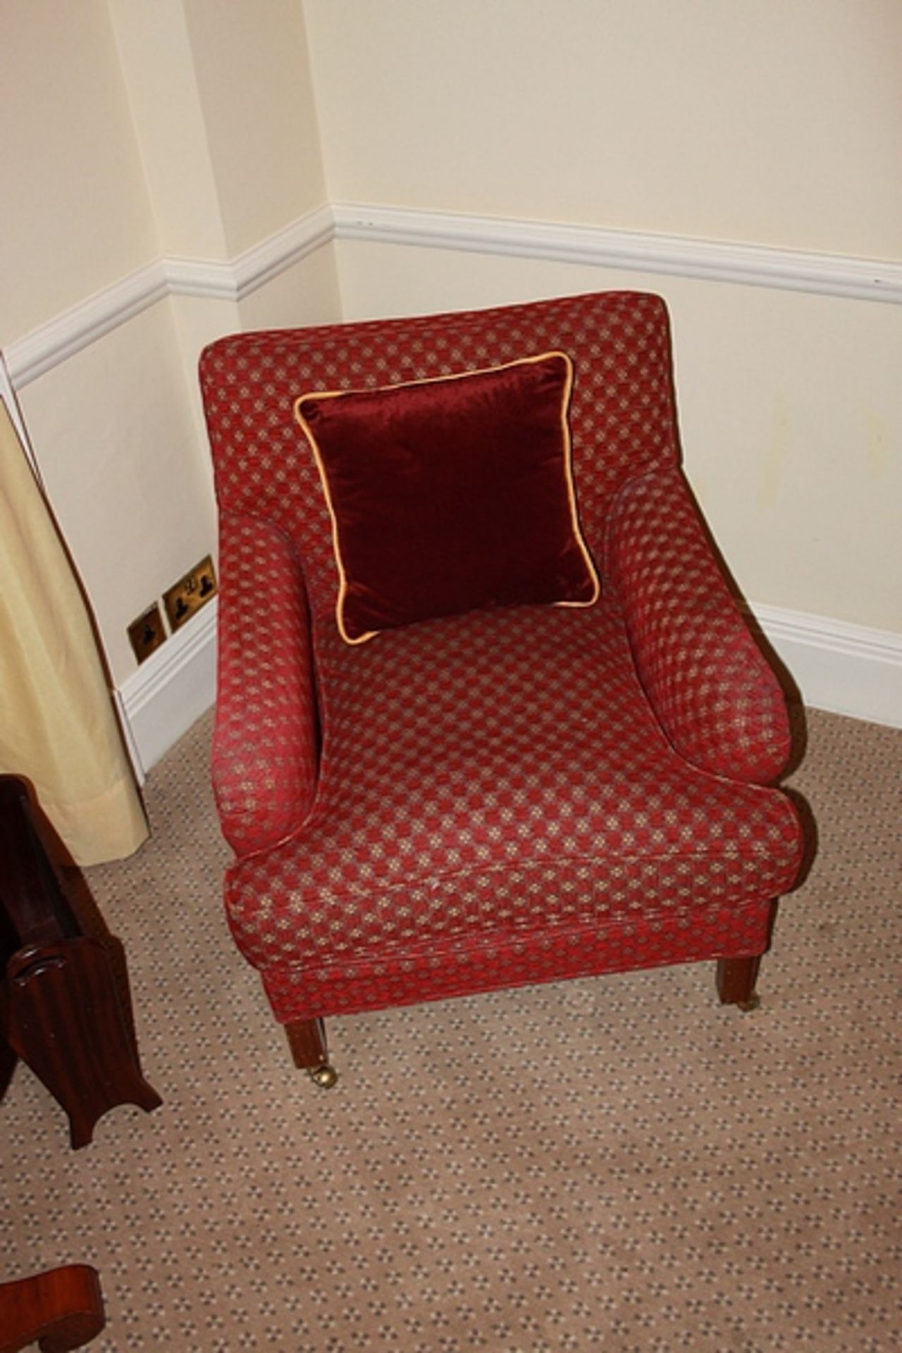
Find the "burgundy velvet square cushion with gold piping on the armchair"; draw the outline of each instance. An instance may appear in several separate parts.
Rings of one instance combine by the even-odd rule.
[[[569,357],[303,395],[339,574],[338,629],[599,593],[571,474]]]

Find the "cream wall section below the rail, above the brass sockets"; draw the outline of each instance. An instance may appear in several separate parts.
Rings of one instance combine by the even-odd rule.
[[[168,302],[91,344],[20,395],[41,472],[92,599],[114,676],[127,624],[215,543]]]

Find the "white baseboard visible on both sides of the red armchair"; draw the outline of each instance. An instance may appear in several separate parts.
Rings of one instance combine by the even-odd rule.
[[[902,636],[752,606],[806,705],[902,728]],[[141,781],[215,701],[216,601],[138,668],[118,704]]]

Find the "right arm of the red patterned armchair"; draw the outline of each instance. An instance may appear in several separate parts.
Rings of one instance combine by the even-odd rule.
[[[640,681],[676,751],[730,779],[776,779],[791,751],[786,700],[678,469],[621,488],[607,522],[604,579],[622,605]]]

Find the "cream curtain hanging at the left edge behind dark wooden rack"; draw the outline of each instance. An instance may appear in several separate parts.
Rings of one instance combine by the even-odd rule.
[[[31,781],[77,865],[147,836],[81,591],[1,399],[0,771]]]

